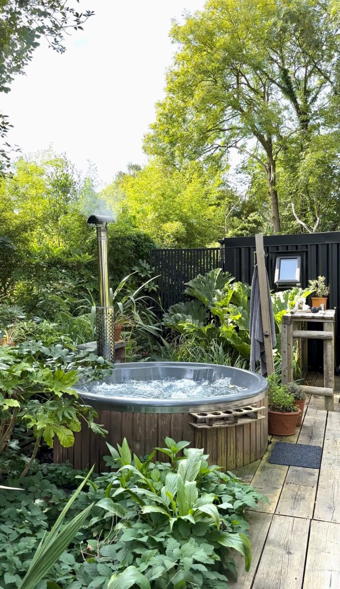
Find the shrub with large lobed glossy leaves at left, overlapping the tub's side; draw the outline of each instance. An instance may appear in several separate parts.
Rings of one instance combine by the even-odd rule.
[[[31,341],[14,348],[0,346],[0,452],[11,440],[16,423],[25,423],[36,444],[24,475],[41,439],[52,447],[56,435],[61,445],[72,446],[73,432],[80,431],[81,421],[104,435],[94,422],[97,413],[78,401],[72,387],[81,377],[103,378],[111,368],[111,363],[91,352],[70,352],[61,345],[48,348]]]

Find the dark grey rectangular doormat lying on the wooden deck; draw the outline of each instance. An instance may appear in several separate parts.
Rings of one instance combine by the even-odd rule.
[[[288,444],[276,442],[272,449],[269,462],[286,466],[302,466],[305,468],[320,468],[322,448],[308,446],[308,444]]]

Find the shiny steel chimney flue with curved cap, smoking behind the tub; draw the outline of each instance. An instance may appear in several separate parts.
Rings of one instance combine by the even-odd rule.
[[[114,219],[103,215],[91,215],[88,223],[94,224],[97,231],[99,277],[99,306],[96,307],[97,354],[114,362],[114,307],[110,306],[108,262],[108,223],[114,223]]]

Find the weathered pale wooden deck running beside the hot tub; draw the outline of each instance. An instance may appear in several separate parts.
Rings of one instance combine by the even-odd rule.
[[[320,377],[309,375],[318,385]],[[336,392],[340,378],[335,377]],[[269,438],[261,461],[235,471],[270,500],[249,512],[252,565],[232,589],[340,589],[340,405],[327,412],[324,399],[306,399],[294,436]],[[321,446],[321,469],[269,464],[276,441]]]

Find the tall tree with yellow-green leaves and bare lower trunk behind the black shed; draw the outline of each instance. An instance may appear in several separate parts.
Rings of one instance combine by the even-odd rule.
[[[324,132],[338,33],[334,2],[209,0],[172,28],[178,51],[146,149],[171,165],[199,159],[222,170],[238,150],[262,171],[281,231],[277,170],[285,163],[296,173]]]

